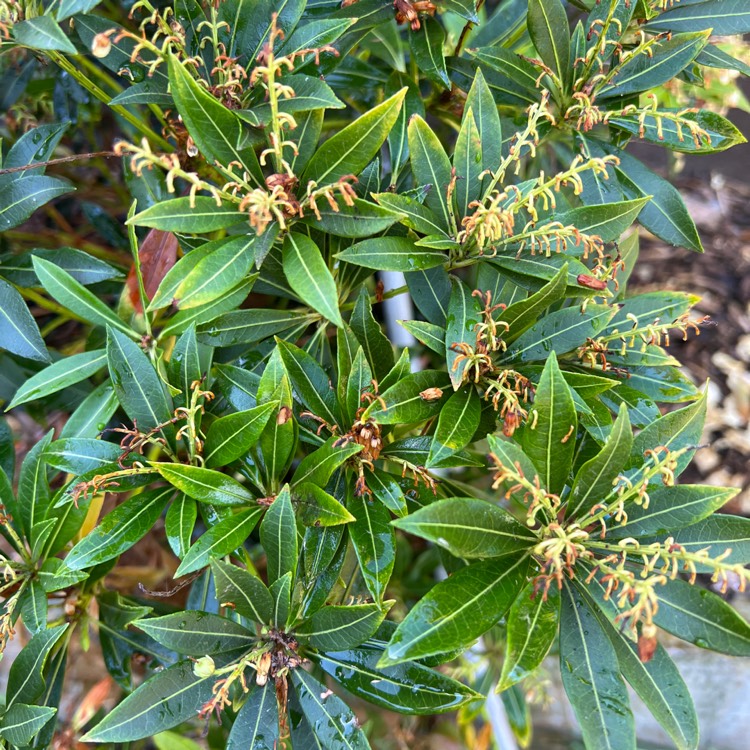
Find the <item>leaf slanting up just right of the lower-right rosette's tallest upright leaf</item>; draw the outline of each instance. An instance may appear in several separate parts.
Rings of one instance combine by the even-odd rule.
[[[568,518],[585,517],[614,491],[614,484],[630,457],[633,432],[622,404],[604,447],[578,470],[568,499]]]

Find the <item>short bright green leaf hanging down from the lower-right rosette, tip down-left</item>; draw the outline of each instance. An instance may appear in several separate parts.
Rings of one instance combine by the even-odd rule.
[[[497,692],[507,690],[530,675],[542,663],[557,636],[560,594],[550,587],[544,595],[530,583],[513,602],[507,617],[507,640],[503,671]]]

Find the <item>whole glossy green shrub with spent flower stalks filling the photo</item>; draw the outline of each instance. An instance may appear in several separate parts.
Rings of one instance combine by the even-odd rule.
[[[748,522],[676,482],[706,398],[666,347],[703,321],[629,293],[630,228],[702,247],[626,146],[744,140],[660,87],[747,72],[710,38],[746,4],[98,5],[1,10],[2,388],[50,427],[15,472],[2,425],[4,746],[365,748],[362,699],[476,747],[493,690],[528,741],[555,649],[587,747],[635,747],[626,681],[696,747],[657,634],[750,653],[696,583],[744,587]],[[118,590],[147,535],[160,591]],[[56,729],[74,643],[124,697]]]

